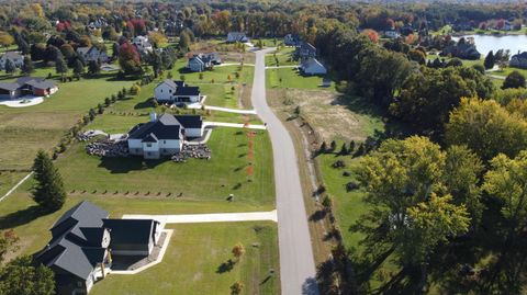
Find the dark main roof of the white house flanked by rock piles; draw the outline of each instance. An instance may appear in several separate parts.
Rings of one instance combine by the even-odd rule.
[[[181,138],[180,123],[173,115],[162,114],[156,122],[148,122],[133,127],[128,133],[128,138],[146,139],[154,134],[157,139],[179,139]]]

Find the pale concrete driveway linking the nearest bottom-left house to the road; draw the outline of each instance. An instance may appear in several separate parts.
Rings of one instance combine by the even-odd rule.
[[[161,224],[201,224],[232,222],[277,222],[277,211],[244,212],[244,213],[211,213],[211,214],[178,214],[178,215],[143,215],[125,214],[123,219],[155,219]]]

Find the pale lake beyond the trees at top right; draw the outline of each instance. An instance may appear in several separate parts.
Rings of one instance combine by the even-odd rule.
[[[496,53],[498,49],[509,49],[511,55],[519,52],[527,52],[527,35],[467,35],[464,37],[473,37],[475,47],[482,56],[486,56],[490,50]],[[458,41],[459,38],[453,38]]]

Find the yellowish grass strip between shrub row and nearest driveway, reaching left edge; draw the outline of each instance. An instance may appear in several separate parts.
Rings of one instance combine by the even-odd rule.
[[[68,195],[61,209],[47,214],[38,209],[31,198],[30,188],[33,180],[25,182],[14,194],[2,201],[0,206],[0,230],[14,229],[20,237],[19,248],[8,254],[11,259],[19,254],[32,254],[41,250],[51,239],[48,229],[67,209],[77,203],[88,200],[104,208],[113,217],[123,214],[192,214],[192,213],[218,213],[218,212],[248,212],[254,206],[245,203],[226,201],[188,201],[171,197],[145,197],[145,196],[114,196],[108,195]]]

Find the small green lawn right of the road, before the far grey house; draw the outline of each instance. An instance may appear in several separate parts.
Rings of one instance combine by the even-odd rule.
[[[267,69],[267,88],[298,88],[298,89],[334,89],[322,87],[322,77],[302,76],[295,68]]]

